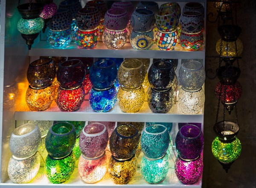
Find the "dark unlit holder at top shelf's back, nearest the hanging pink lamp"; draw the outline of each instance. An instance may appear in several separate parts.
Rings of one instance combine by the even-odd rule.
[[[79,0],[63,0],[59,4],[58,9],[67,9],[68,14],[74,19],[76,18],[77,12],[82,8]]]

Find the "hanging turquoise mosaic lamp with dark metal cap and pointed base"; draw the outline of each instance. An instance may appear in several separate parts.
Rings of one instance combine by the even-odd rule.
[[[26,40],[30,50],[39,32],[44,28],[44,20],[40,17],[44,4],[24,3],[20,5],[19,1],[17,9],[22,17],[17,23],[17,29],[23,39]]]

